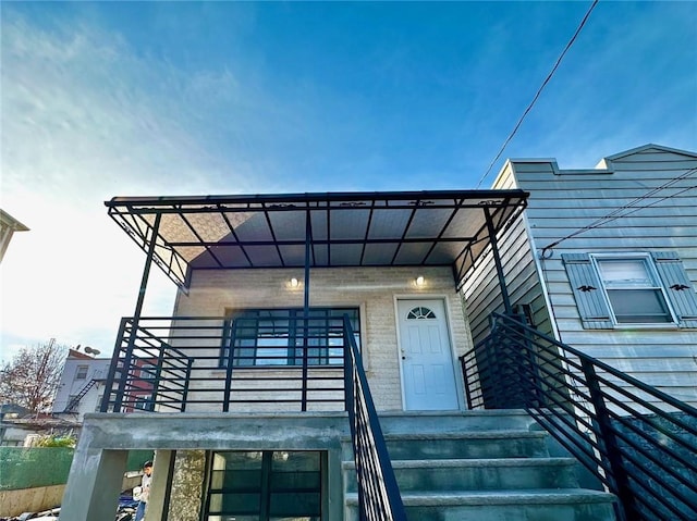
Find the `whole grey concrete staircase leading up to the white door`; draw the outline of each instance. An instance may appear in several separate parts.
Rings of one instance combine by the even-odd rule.
[[[522,411],[380,417],[409,521],[615,521],[613,496],[579,487],[580,466],[551,457],[549,435]],[[344,510],[357,521],[351,439]]]

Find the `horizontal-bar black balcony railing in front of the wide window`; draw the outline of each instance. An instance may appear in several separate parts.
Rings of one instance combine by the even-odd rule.
[[[342,317],[121,321],[103,412],[344,410]]]

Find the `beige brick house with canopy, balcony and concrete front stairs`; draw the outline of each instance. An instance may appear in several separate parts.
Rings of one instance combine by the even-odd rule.
[[[402,500],[409,519],[616,519],[527,413],[466,410],[458,359],[491,312],[557,334],[526,189],[107,201],[146,263],[61,513],[109,517],[127,451],[155,449],[148,521],[405,519]],[[142,313],[154,265],[172,317]]]

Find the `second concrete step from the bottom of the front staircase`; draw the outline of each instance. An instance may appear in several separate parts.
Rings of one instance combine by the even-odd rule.
[[[347,492],[356,492],[355,463],[342,464]],[[431,459],[392,461],[400,492],[572,488],[573,458]]]

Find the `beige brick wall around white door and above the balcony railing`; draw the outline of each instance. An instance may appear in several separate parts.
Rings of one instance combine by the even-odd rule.
[[[188,295],[180,294],[180,317],[222,317],[239,308],[303,307],[304,272],[295,270],[198,270]],[[417,287],[415,277],[426,283]],[[296,277],[301,285],[290,286]],[[357,306],[362,352],[376,407],[401,410],[402,392],[395,320],[398,297],[442,297],[450,317],[455,351],[470,345],[463,305],[449,268],[331,268],[310,272],[310,306]],[[457,371],[458,372],[458,371]]]

